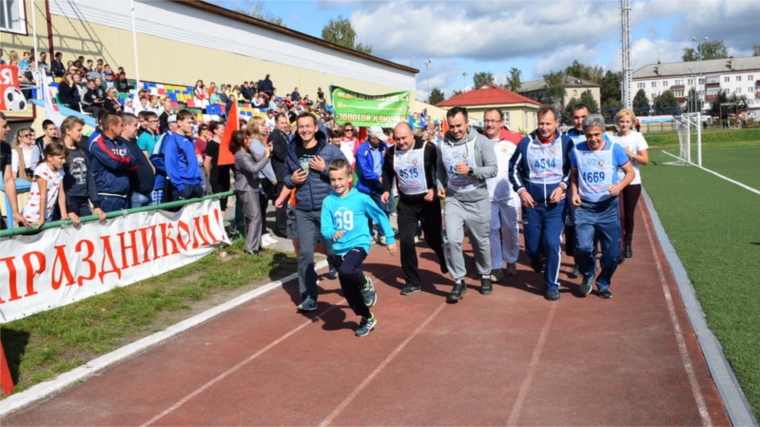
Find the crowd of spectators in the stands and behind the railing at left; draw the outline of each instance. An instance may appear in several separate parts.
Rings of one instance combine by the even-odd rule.
[[[24,58],[28,66],[34,66],[34,58],[29,55]],[[9,195],[19,194],[18,208],[14,212],[20,213],[24,209],[28,203],[25,194],[32,190],[37,180],[44,179],[37,168],[49,163],[45,150],[54,144],[54,151],[64,152],[66,159],[61,168],[63,179],[59,194],[62,204],[51,206],[47,203],[49,214],[39,216],[44,221],[68,218],[76,223],[79,217],[93,213],[104,219],[105,213],[110,211],[190,199],[230,188],[240,190],[240,185],[231,185],[235,181],[234,165],[219,164],[224,115],[220,121],[198,123],[195,112],[169,96],[161,97],[142,89],[137,91],[136,97],[119,96],[120,93],[130,93],[132,83],[121,67],[114,72],[102,59],[85,61],[79,57],[64,64],[62,55],[57,53],[50,66],[42,55],[37,64],[44,66],[45,73],[58,81],[59,101],[96,117],[98,127],[89,137],[82,137],[84,121],[71,116],[64,120],[60,129],[46,120],[44,135],[40,138],[36,138],[33,129],[23,128],[8,141],[11,144],[3,142],[3,147],[9,148],[10,153],[7,170],[5,164],[2,165],[3,182],[6,188],[11,185],[18,190],[8,192]],[[133,98],[138,105],[132,104]],[[279,97],[269,74],[242,85],[211,82],[206,86],[203,80],[198,80],[194,86],[192,104],[220,105],[224,106],[223,111],[229,111],[235,102],[250,103],[266,110],[266,117],[254,117],[248,122],[241,119],[239,129],[245,135],[237,137],[238,150],[247,148],[256,164],[256,180],[250,179],[250,170],[239,175],[244,176],[246,182],[255,183],[253,190],[259,194],[256,200],[259,214],[254,215],[254,225],[259,229],[258,240],[247,246],[251,252],[256,252],[258,247],[274,243],[266,233],[260,213],[266,209],[268,201],[273,201],[282,191],[285,181],[282,165],[287,157],[288,144],[295,135],[294,123],[298,115],[313,115],[319,131],[340,147],[352,165],[361,142],[358,128],[350,123],[342,126],[335,123],[322,88],[317,89],[315,101],[302,95],[298,87]],[[4,118],[0,118],[0,125],[5,125]],[[249,138],[250,143],[245,138]],[[5,139],[0,138],[0,141]],[[262,161],[264,154],[265,162]],[[236,158],[243,164],[251,164],[247,157],[241,160],[237,155]],[[264,166],[259,169],[262,164]],[[252,209],[253,204],[251,198],[246,198],[247,210]],[[220,205],[226,210],[226,198],[221,199]],[[26,218],[18,215],[14,215],[14,222],[30,225]],[[286,235],[285,209],[277,211],[273,234]]]

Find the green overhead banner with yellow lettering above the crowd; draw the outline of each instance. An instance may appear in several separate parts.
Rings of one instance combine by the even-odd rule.
[[[367,95],[330,86],[330,94],[335,121],[340,124],[351,122],[362,127],[392,127],[408,120],[409,91]]]

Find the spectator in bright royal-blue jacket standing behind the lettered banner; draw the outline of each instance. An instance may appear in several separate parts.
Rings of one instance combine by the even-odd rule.
[[[203,175],[191,139],[195,115],[190,110],[177,113],[177,132],[166,137],[166,176],[171,182],[172,200],[203,196]]]

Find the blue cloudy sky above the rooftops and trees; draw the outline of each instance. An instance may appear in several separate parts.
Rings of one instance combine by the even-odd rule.
[[[244,0],[209,0],[234,9]],[[692,37],[722,39],[733,56],[749,56],[760,44],[758,0],[630,0],[631,61],[677,62]],[[619,71],[619,0],[278,0],[265,13],[296,31],[321,37],[338,15],[349,17],[358,41],[372,54],[420,70],[418,98],[427,87],[472,87],[472,76],[489,71],[504,83],[509,69],[522,80],[541,78],[578,59]],[[432,59],[427,71],[425,62]],[[467,73],[467,76],[463,76]]]

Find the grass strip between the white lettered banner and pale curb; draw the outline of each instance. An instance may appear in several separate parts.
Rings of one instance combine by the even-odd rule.
[[[293,254],[243,252],[244,239],[160,276],[2,325],[16,391],[297,270]],[[271,279],[270,279],[271,278]]]

